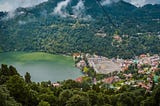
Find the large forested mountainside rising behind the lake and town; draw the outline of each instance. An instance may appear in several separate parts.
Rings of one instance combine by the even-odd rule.
[[[0,52],[87,52],[122,58],[160,53],[160,5],[137,8],[120,0],[104,6],[110,20],[90,0],[84,0],[83,14],[75,16],[73,8],[78,0],[72,0],[65,8],[68,16],[55,15],[58,2],[48,0],[32,8],[18,8],[14,17],[0,12]]]

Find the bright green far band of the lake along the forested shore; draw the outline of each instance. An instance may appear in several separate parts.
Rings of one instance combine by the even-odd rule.
[[[73,60],[70,56],[62,56],[62,55],[53,55],[44,52],[7,52],[0,53],[1,61],[10,61],[16,60],[19,62],[28,62],[28,61],[51,61],[51,62],[66,62],[72,63]]]

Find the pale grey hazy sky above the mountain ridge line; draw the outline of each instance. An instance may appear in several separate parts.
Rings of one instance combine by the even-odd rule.
[[[18,7],[32,7],[48,0],[0,0],[0,11],[14,11]],[[114,0],[104,0],[106,3]],[[115,0],[117,1],[117,0]],[[160,0],[124,0],[136,6],[145,4],[160,4]]]

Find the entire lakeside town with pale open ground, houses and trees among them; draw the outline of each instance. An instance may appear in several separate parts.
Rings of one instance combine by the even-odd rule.
[[[146,91],[151,91],[154,84],[158,84],[160,75],[160,56],[141,54],[134,59],[108,59],[103,56],[83,53],[73,54],[76,67],[81,69],[86,76],[89,68],[93,69],[96,75],[104,75],[99,79],[93,75],[93,83],[109,84],[108,87],[120,89],[123,85],[131,87],[142,87]],[[82,82],[84,77],[77,78]]]

